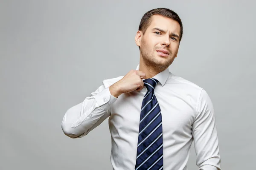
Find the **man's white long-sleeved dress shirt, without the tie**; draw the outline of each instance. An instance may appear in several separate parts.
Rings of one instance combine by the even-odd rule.
[[[96,91],[65,113],[61,127],[71,138],[83,137],[108,118],[113,170],[134,170],[140,110],[147,88],[116,98],[109,86],[122,77],[103,80]],[[199,170],[220,170],[215,113],[207,92],[168,68],[153,78],[159,81],[154,93],[162,113],[163,169],[188,170],[194,140]]]

